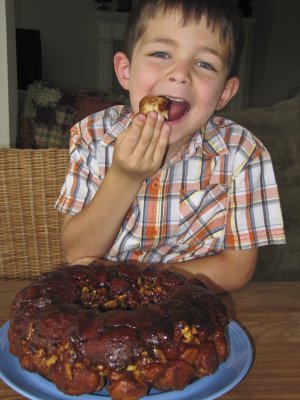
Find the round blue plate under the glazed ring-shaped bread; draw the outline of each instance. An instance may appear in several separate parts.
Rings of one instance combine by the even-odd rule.
[[[81,396],[67,396],[37,373],[25,371],[18,358],[9,352],[9,322],[0,329],[0,378],[30,400],[109,400],[106,389]],[[245,331],[234,321],[228,327],[230,352],[227,360],[211,376],[198,379],[184,390],[160,392],[151,389],[141,400],[213,400],[236,386],[249,371],[253,351]]]

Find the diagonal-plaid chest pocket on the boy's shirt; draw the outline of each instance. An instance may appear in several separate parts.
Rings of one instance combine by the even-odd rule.
[[[227,185],[211,184],[204,190],[180,193],[178,244],[190,247],[207,246],[220,250],[224,241],[228,208]]]

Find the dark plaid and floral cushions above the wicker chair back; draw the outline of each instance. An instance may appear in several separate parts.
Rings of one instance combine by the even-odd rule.
[[[89,114],[126,102],[123,95],[62,89],[46,82],[34,82],[29,85],[25,98],[18,147],[68,148],[72,125]]]

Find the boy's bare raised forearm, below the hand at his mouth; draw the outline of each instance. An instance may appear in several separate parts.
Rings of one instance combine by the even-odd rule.
[[[67,218],[62,244],[69,263],[81,257],[101,258],[114,242],[142,181],[110,169],[92,201]]]

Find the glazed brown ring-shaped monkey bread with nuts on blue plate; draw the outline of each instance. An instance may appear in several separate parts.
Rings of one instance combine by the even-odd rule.
[[[227,358],[226,309],[197,279],[147,266],[62,267],[15,297],[10,351],[67,394],[139,399],[183,389]]]

